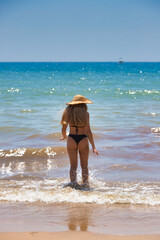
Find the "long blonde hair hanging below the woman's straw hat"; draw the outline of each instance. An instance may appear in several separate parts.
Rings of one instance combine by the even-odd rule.
[[[69,105],[63,112],[61,124],[71,126],[87,125],[87,105],[85,103]]]

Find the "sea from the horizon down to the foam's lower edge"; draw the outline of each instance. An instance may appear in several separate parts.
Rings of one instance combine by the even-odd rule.
[[[58,198],[69,180],[60,119],[76,94],[94,103],[95,191],[71,198],[73,190],[64,189]],[[159,106],[160,63],[0,63],[0,200],[160,205]]]

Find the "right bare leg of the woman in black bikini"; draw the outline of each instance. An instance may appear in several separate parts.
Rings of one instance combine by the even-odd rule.
[[[84,185],[88,185],[88,156],[89,156],[89,145],[88,138],[83,138],[79,144],[79,155],[82,168],[82,182]]]

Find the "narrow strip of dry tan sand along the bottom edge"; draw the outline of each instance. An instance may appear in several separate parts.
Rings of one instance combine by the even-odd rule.
[[[108,235],[91,232],[1,232],[0,240],[160,240],[159,235]]]

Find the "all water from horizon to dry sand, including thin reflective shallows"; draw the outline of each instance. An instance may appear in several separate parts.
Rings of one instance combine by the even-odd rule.
[[[60,120],[88,104],[99,156],[69,182]],[[69,129],[67,129],[67,133]],[[81,183],[80,164],[77,170]],[[0,231],[160,233],[160,62],[0,63]]]

